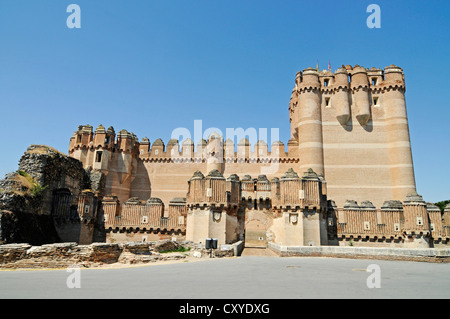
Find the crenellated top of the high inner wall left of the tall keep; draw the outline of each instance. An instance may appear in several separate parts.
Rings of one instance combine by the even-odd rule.
[[[292,143],[288,143],[286,150],[283,142],[275,141],[271,144],[269,151],[268,144],[263,140],[251,145],[247,138],[243,138],[235,145],[231,139],[223,142],[221,136],[211,135],[207,140],[200,140],[196,147],[191,139],[183,142],[171,139],[166,145],[160,138],[153,143],[147,137],[139,141],[134,133],[127,130],[121,130],[116,135],[113,127],[105,130],[103,125],[99,125],[95,132],[90,125],[79,126],[71,137],[69,146],[69,154],[72,157],[83,162],[92,162],[94,157],[95,162],[101,161],[98,156],[89,157],[87,153],[80,156],[82,151],[85,153],[87,151],[123,152],[136,156],[144,162],[160,163],[207,163],[211,158],[215,158],[220,163],[298,162],[298,152],[295,147],[292,147]]]

